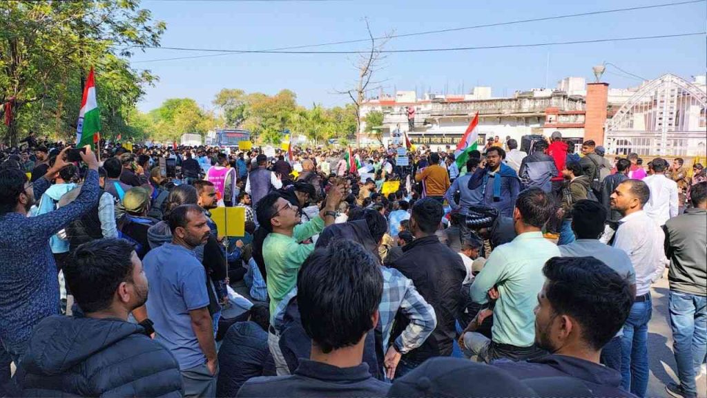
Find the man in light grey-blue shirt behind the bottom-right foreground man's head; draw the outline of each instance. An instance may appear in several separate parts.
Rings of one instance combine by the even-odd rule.
[[[572,207],[572,230],[577,240],[571,244],[559,246],[563,257],[592,256],[616,271],[626,281],[631,296],[636,297],[636,271],[631,258],[625,251],[603,244],[599,237],[604,233],[606,208],[594,200],[579,200]],[[621,372],[621,336],[623,329],[602,348],[600,358],[603,365]]]

